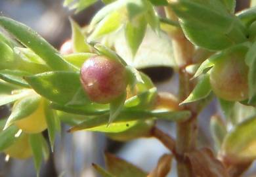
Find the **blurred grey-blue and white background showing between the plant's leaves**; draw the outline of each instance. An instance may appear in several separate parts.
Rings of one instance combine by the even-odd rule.
[[[102,7],[100,1],[79,14],[65,9],[62,0],[0,0],[0,15],[18,20],[37,31],[56,49],[64,41],[70,39],[71,28],[68,17],[72,16],[81,26],[89,23],[95,12]],[[249,1],[238,1],[237,10],[241,10]],[[178,79],[173,75],[171,68],[144,69],[156,83],[158,90],[177,93]],[[156,74],[157,73],[157,74]],[[200,115],[199,140],[202,146],[211,146],[212,140],[209,136],[209,115],[215,113],[216,101],[213,100],[208,108]],[[9,115],[9,108],[0,107],[1,117]],[[175,126],[169,122],[159,122],[158,127],[163,131],[175,136]],[[104,151],[116,153],[117,156],[138,165],[143,170],[150,172],[156,167],[159,157],[169,151],[154,138],[140,138],[125,144],[109,140],[100,133],[66,132],[68,127],[62,126],[62,132],[58,135],[55,143],[55,151],[47,163],[41,168],[41,177],[67,176],[67,177],[94,177],[95,171],[91,163],[97,163],[104,167]],[[175,165],[175,164],[174,164]],[[18,161],[10,159],[5,162],[5,156],[0,155],[0,177],[36,176],[33,160]],[[175,168],[169,176],[177,176]]]

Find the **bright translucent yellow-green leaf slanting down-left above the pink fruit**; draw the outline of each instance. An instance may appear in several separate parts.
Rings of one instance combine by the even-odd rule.
[[[95,41],[104,35],[116,31],[121,27],[122,20],[122,16],[117,11],[108,14],[108,16],[101,20],[95,27],[95,30],[89,36],[88,41]]]

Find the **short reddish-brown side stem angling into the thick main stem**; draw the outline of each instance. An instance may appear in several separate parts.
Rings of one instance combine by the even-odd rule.
[[[152,136],[160,140],[160,142],[167,147],[173,154],[176,154],[175,152],[175,140],[173,137],[169,136],[169,134],[166,134],[162,130],[160,130],[158,127],[153,127],[151,130]]]

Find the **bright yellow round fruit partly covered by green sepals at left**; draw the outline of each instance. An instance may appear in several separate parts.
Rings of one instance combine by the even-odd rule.
[[[15,104],[14,104],[15,106]],[[47,128],[45,120],[44,102],[41,99],[35,111],[24,119],[15,122],[15,125],[27,133],[39,133]]]

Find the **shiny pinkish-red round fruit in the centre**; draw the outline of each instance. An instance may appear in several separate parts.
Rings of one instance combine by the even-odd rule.
[[[125,92],[127,77],[125,67],[106,56],[93,56],[83,63],[81,84],[93,102],[107,104]]]

